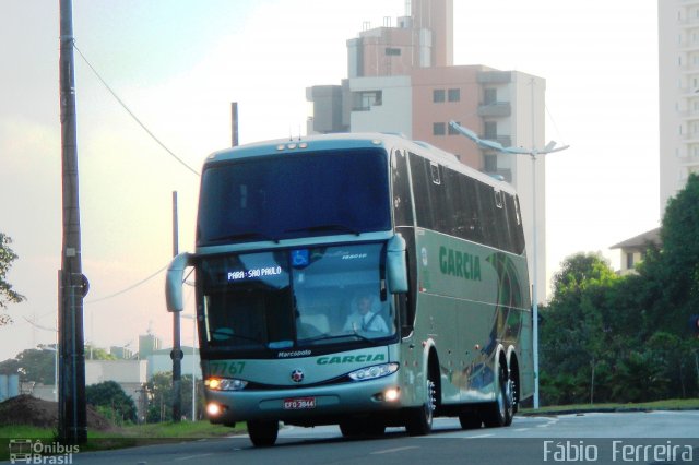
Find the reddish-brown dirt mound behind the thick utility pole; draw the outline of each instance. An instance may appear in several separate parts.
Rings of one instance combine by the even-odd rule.
[[[19,395],[0,403],[0,426],[28,425],[58,429],[58,403],[31,395]],[[109,421],[87,405],[87,428],[98,431],[111,429]]]

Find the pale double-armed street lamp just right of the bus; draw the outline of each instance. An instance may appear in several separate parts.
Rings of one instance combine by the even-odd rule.
[[[533,94],[533,83],[532,83],[532,94]],[[532,112],[534,108],[534,103],[532,99]],[[532,116],[532,144],[534,144],[534,118]],[[534,267],[534,272],[532,274],[532,345],[533,347],[533,362],[534,362],[534,408],[538,408],[538,297],[536,295],[536,288],[538,286],[538,251],[537,251],[537,235],[536,235],[536,157],[538,155],[546,155],[554,152],[565,151],[569,147],[569,145],[564,145],[560,147],[556,147],[556,142],[550,141],[543,150],[537,150],[536,146],[532,148],[521,148],[521,147],[505,147],[499,142],[490,141],[487,139],[481,139],[478,135],[470,129],[463,128],[455,121],[449,121],[449,126],[452,127],[459,133],[465,135],[475,142],[478,146],[495,150],[505,154],[510,155],[529,155],[532,159],[532,241],[533,246],[533,258],[532,258],[532,266]]]

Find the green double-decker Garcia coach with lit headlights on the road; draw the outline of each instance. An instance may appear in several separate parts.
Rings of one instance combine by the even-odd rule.
[[[392,134],[331,134],[212,154],[193,267],[210,421],[345,437],[436,416],[505,427],[533,393],[522,216],[508,183]]]

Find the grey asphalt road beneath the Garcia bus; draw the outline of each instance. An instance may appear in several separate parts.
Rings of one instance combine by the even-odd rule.
[[[655,455],[653,455],[655,454]],[[699,412],[516,417],[509,428],[462,430],[435,420],[426,437],[390,428],[380,439],[346,440],[336,427],[280,431],[273,448],[247,437],[72,455],[73,464],[699,464]]]

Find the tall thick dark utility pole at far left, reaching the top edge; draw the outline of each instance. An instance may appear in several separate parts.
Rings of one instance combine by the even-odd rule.
[[[88,285],[82,273],[80,249],[73,41],[72,0],[60,0],[59,88],[63,178],[63,245],[61,249],[61,269],[58,273],[58,434],[61,443],[83,444],[87,441],[83,298],[87,294]]]

